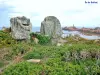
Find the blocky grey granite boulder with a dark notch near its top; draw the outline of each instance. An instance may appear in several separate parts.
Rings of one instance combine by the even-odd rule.
[[[22,17],[14,17],[10,19],[11,35],[16,40],[30,39],[30,32],[32,31],[32,24],[30,19]]]

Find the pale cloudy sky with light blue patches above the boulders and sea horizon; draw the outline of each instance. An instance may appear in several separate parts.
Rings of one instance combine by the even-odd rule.
[[[40,26],[46,16],[56,16],[62,27],[100,27],[100,0],[0,0],[0,27],[10,26],[10,18],[16,16],[30,18],[33,26]]]

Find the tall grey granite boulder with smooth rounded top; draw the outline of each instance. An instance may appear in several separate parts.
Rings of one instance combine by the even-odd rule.
[[[54,16],[47,16],[41,22],[41,34],[51,37],[52,44],[56,44],[62,36],[62,28],[60,21]]]

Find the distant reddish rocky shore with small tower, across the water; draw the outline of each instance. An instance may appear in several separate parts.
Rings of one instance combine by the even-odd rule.
[[[74,25],[71,27],[63,27],[63,30],[68,30],[68,31],[80,31],[80,32],[88,32],[88,33],[96,33],[96,34],[100,34],[100,27],[95,27],[95,28],[86,28],[86,27],[82,27],[82,28],[77,28]]]

